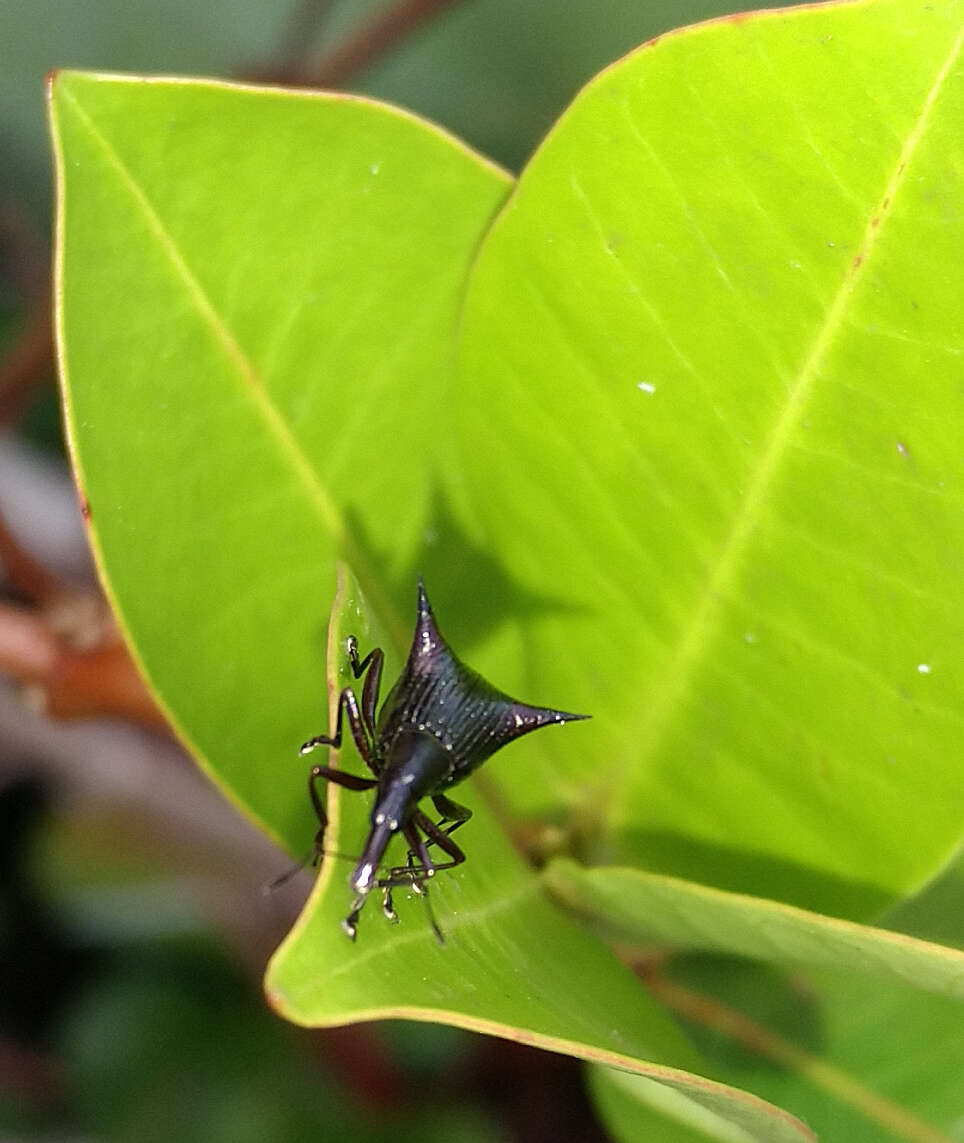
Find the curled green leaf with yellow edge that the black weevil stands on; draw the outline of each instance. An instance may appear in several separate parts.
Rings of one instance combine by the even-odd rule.
[[[383,644],[385,632],[357,583],[344,575],[328,634],[332,717],[342,687],[351,681],[345,654],[350,634],[365,650]],[[348,736],[330,758],[340,768],[365,773]],[[722,1122],[740,1125],[747,1140],[791,1143],[808,1137],[803,1125],[779,1109],[678,1070],[699,1069],[700,1061],[676,1026],[613,953],[550,904],[485,805],[475,801],[472,808],[473,817],[460,833],[470,860],[440,874],[430,888],[445,944],[436,941],[417,900],[396,901],[397,926],[379,916],[372,901],[360,919],[358,943],[349,942],[340,926],[351,901],[341,876],[345,866],[326,861],[301,919],[268,970],[268,996],[282,1016],[309,1026],[406,1017],[491,1032],[650,1077],[679,1114],[714,1109]],[[326,846],[357,853],[367,799],[330,788],[329,809]]]

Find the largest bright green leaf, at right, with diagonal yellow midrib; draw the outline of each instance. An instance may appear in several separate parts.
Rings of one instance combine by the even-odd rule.
[[[620,864],[861,917],[961,839],[962,17],[645,47],[475,264],[464,471],[558,602],[483,663],[596,716],[591,761],[569,736],[500,775]]]

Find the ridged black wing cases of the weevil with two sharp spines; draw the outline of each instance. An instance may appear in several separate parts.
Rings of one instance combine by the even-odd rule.
[[[400,732],[432,735],[452,759],[435,789],[425,791],[437,793],[461,782],[496,750],[524,734],[583,717],[517,702],[460,662],[441,637],[419,582],[419,614],[408,661],[379,714],[383,765],[389,762]]]

